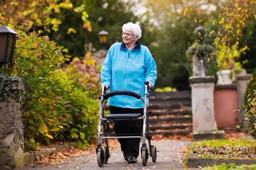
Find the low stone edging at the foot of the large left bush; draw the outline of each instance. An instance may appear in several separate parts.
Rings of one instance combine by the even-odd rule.
[[[68,142],[68,143],[56,145],[54,147],[45,148],[42,150],[33,150],[33,151],[25,152],[23,153],[24,155],[23,166],[35,163],[37,161],[36,156],[38,159],[43,159],[43,157],[45,158],[52,153],[56,153],[57,151],[61,151],[61,150],[67,150],[71,146],[76,147],[76,145],[77,145],[77,142]]]

